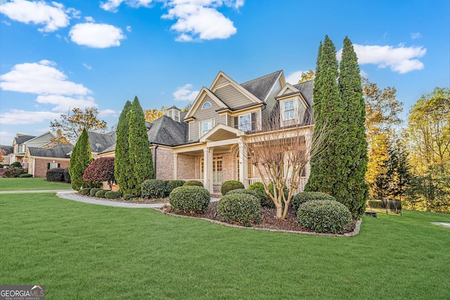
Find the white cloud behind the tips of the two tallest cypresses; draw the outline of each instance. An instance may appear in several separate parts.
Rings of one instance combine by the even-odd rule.
[[[417,58],[425,56],[426,48],[422,46],[406,47],[400,44],[394,46],[364,46],[354,44],[354,51],[358,56],[359,65],[373,64],[378,67],[390,67],[394,72],[404,74],[413,70],[422,70],[424,65]],[[342,48],[337,53],[342,56]]]

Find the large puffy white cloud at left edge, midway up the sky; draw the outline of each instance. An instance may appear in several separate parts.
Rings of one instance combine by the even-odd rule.
[[[82,84],[68,81],[68,77],[55,68],[56,63],[41,60],[39,63],[21,63],[0,76],[4,91],[36,93],[38,95],[86,95],[91,93]]]

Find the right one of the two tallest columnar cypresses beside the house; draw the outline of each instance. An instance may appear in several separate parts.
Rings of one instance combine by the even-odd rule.
[[[361,85],[358,58],[354,52],[352,41],[344,39],[342,60],[339,74],[340,96],[345,105],[342,122],[346,123],[346,153],[340,159],[344,162],[347,174],[345,180],[336,182],[335,197],[347,205],[353,216],[364,214],[368,200],[367,142],[366,142],[366,109]]]

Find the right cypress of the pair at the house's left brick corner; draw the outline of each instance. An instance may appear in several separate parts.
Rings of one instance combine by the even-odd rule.
[[[131,105],[128,142],[129,162],[132,168],[128,188],[131,194],[139,195],[141,183],[155,178],[155,170],[147,136],[146,120],[137,97],[134,97]]]

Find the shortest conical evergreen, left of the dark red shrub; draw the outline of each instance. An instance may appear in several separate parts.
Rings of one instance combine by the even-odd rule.
[[[80,190],[83,185],[83,174],[86,168],[91,164],[91,147],[89,144],[89,136],[86,129],[83,129],[82,134],[79,136],[75,147],[72,150],[70,156],[70,180],[72,181],[72,188],[74,190]]]

